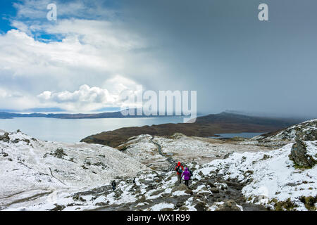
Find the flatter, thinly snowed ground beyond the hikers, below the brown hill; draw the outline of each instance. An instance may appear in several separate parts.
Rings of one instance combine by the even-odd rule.
[[[157,147],[150,141],[151,138],[151,135],[134,137],[124,144],[128,147],[125,153],[147,165],[151,163],[156,168],[166,166],[165,158],[159,155]],[[216,139],[189,137],[183,134],[175,134],[170,138],[154,136],[153,141],[162,146],[163,153],[182,162],[206,163],[223,158],[228,153],[271,150],[263,146],[240,146]]]

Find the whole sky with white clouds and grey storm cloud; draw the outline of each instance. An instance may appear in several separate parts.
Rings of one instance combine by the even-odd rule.
[[[46,18],[52,3],[56,21]],[[1,1],[0,108],[102,111],[142,85],[197,91],[199,113],[317,117],[316,9],[314,0]]]

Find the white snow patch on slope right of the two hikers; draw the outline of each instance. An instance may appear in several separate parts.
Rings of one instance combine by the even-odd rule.
[[[311,146],[309,154],[317,154],[317,141],[305,141]],[[306,210],[299,200],[301,196],[317,195],[317,165],[312,169],[295,169],[294,163],[288,158],[292,143],[273,150],[259,153],[233,153],[225,160],[214,160],[204,168],[194,172],[208,175],[211,172],[223,174],[224,179],[237,179],[247,181],[242,193],[250,202],[256,202],[273,208],[270,200],[285,201],[287,198],[297,205],[297,210]]]

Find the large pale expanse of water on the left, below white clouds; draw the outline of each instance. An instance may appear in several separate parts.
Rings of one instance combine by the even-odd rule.
[[[76,143],[102,131],[121,127],[142,127],[153,124],[181,123],[183,117],[102,118],[102,119],[54,119],[44,117],[0,119],[0,129],[16,131],[44,141]]]

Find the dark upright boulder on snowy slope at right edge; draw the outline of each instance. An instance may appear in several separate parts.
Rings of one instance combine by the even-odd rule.
[[[293,160],[300,167],[313,167],[316,164],[316,161],[307,155],[305,143],[299,139],[292,146],[290,160]]]

